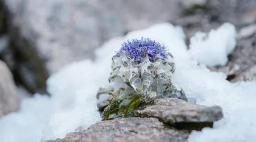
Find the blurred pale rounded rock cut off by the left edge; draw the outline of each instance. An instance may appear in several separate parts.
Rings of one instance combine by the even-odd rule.
[[[13,82],[12,73],[7,65],[0,60],[0,117],[18,110],[18,96]]]

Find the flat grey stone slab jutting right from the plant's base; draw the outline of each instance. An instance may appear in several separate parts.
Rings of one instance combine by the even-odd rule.
[[[155,99],[152,104],[138,107],[134,116],[154,117],[163,122],[214,122],[223,117],[218,106],[207,107],[181,99]]]

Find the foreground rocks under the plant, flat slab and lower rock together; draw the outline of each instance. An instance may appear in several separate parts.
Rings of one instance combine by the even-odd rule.
[[[141,104],[130,118],[102,121],[54,142],[187,141],[190,130],[212,127],[222,117],[222,110],[217,106],[206,107],[176,98],[155,99]]]

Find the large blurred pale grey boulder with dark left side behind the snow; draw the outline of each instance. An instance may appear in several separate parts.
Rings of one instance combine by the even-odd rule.
[[[63,65],[93,59],[104,41],[180,12],[179,0],[2,1],[9,12],[11,47],[23,59],[17,73],[31,92],[44,91],[49,74]]]

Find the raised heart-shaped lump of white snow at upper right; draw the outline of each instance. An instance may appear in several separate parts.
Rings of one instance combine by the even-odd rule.
[[[207,66],[226,65],[229,55],[235,49],[235,26],[229,23],[212,29],[207,37],[197,32],[190,38],[190,54],[199,63]]]

